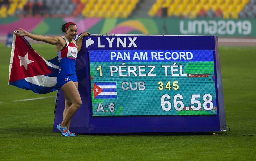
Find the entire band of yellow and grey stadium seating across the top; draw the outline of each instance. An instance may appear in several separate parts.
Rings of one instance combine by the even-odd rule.
[[[145,1],[145,0],[144,0]],[[0,17],[140,17],[139,0],[0,0]],[[256,0],[151,0],[148,16],[256,18]],[[137,8],[136,8],[137,7]],[[163,8],[166,8],[163,10]],[[133,12],[136,10],[135,12]],[[167,11],[167,12],[165,12]],[[147,16],[144,14],[144,16]]]

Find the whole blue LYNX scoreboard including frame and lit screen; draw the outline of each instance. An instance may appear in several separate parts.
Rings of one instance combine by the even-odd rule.
[[[72,118],[74,132],[220,131],[226,125],[217,36],[89,36],[76,70],[82,106]]]

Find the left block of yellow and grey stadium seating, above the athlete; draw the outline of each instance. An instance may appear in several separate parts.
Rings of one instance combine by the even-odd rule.
[[[9,0],[0,17],[128,17],[139,0]]]

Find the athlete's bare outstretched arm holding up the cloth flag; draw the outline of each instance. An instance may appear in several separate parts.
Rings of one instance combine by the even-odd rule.
[[[51,36],[42,36],[42,35],[37,35],[37,34],[32,34],[30,32],[27,32],[26,30],[19,28],[20,30],[15,30],[18,31],[17,35],[20,36],[28,36],[33,40],[36,41],[43,41],[52,45],[58,45],[60,44],[60,37],[51,37]]]

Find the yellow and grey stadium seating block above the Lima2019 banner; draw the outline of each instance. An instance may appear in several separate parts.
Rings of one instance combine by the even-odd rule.
[[[256,17],[255,0],[156,0],[148,15],[162,16],[159,12],[162,8],[167,8],[169,17],[233,19]]]

